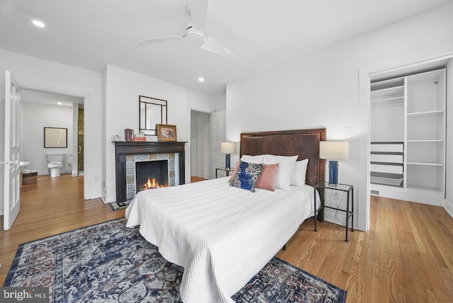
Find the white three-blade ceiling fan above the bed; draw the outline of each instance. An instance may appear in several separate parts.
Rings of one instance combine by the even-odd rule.
[[[215,40],[211,35],[205,35],[205,33],[203,33],[203,28],[205,28],[206,24],[207,1],[208,0],[195,0],[190,2],[187,11],[193,20],[188,23],[183,35],[148,38],[137,41],[137,44],[143,45],[164,42],[167,40],[187,39],[194,45],[200,45],[202,50],[213,52],[214,54],[220,55],[232,61],[239,61],[241,58],[234,54],[234,52],[231,52],[231,50],[226,48],[219,41]]]

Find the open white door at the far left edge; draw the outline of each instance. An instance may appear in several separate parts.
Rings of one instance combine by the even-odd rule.
[[[19,102],[21,96],[11,73],[5,71],[4,230],[13,225],[20,210]]]

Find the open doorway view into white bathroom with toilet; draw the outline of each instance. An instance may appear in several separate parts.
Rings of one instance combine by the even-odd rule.
[[[61,173],[83,175],[84,98],[23,88],[20,114],[20,156],[21,160],[30,162],[30,170],[38,171],[39,176],[48,175],[45,154],[64,154]],[[45,148],[44,127],[66,128],[67,147]],[[54,181],[58,182],[58,178]]]

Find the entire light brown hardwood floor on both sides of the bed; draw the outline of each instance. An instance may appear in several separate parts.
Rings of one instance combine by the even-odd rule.
[[[124,217],[83,200],[83,177],[23,185],[21,213],[0,232],[0,285],[19,244]],[[304,222],[277,256],[348,291],[348,302],[453,302],[453,219],[442,207],[372,197],[370,229]],[[3,224],[3,222],[1,222]]]

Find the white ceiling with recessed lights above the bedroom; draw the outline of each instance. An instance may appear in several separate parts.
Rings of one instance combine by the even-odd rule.
[[[222,93],[231,81],[449,0],[210,1],[205,34],[239,55],[239,62],[188,40],[135,43],[183,35],[190,22],[189,1],[1,0],[0,48],[96,72],[112,64],[197,91]],[[46,28],[36,28],[33,19]],[[204,83],[197,81],[199,76]]]

